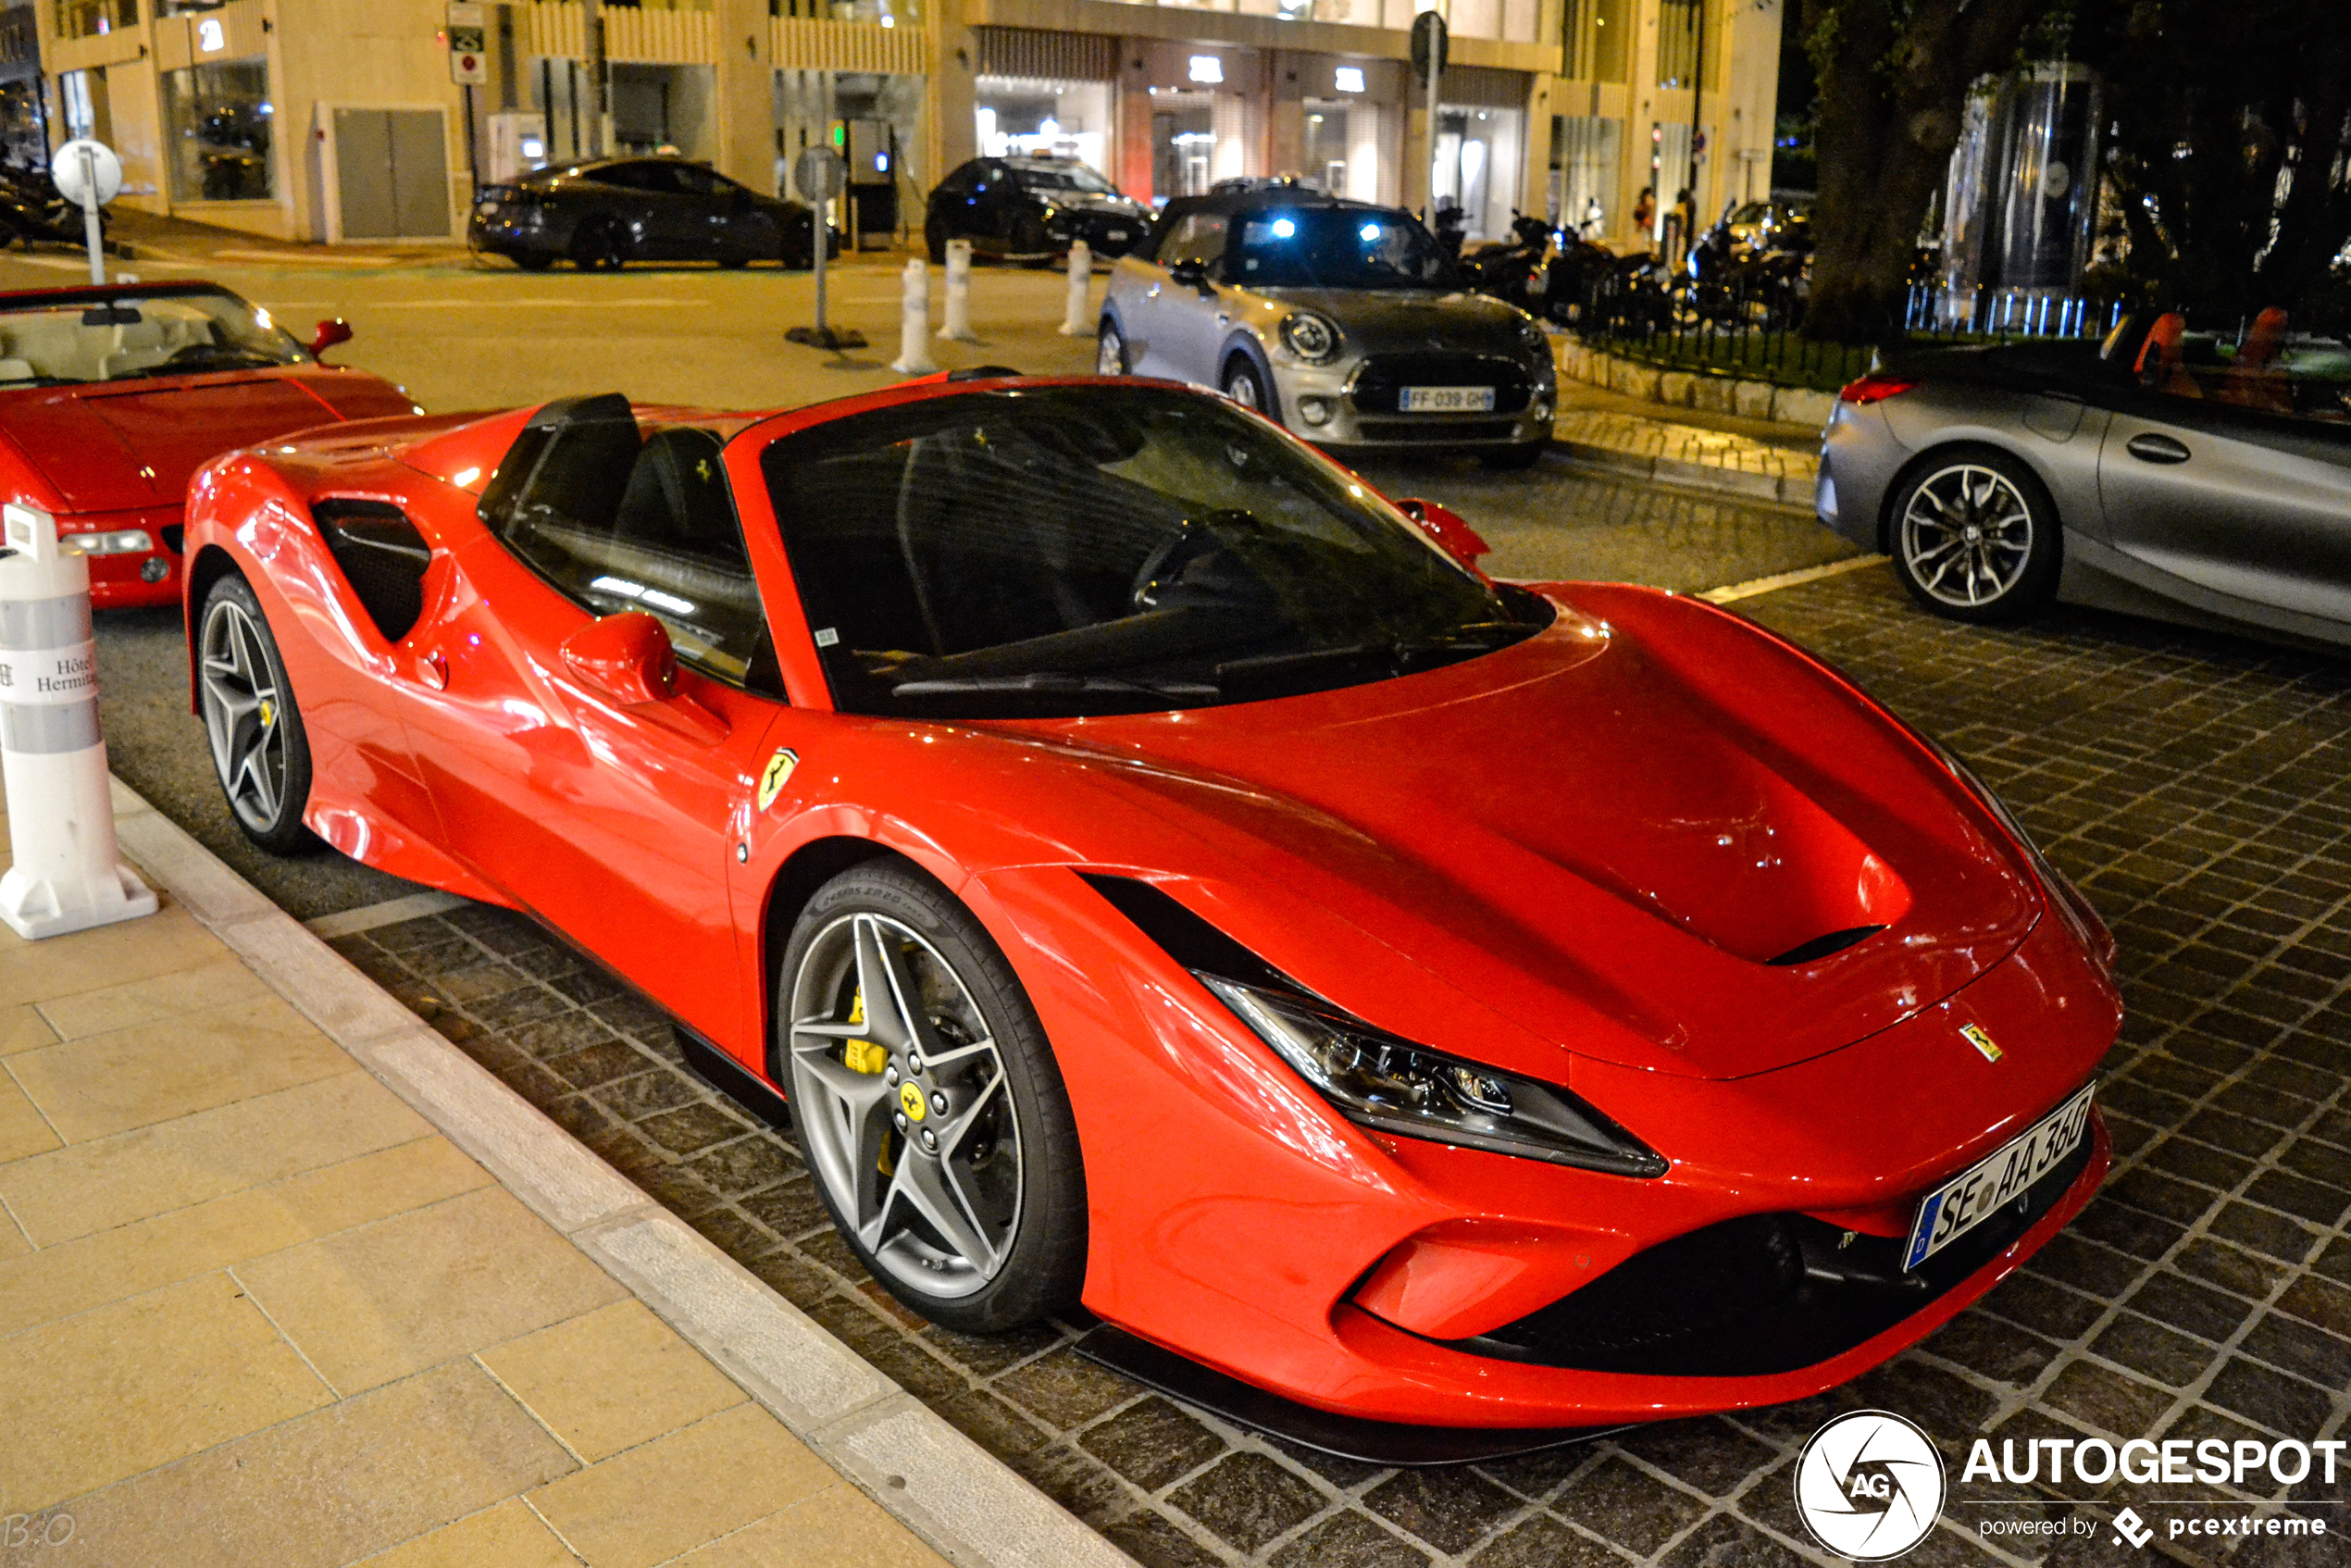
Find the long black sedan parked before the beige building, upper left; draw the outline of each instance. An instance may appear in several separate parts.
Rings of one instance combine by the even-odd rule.
[[[597,158],[531,169],[489,186],[465,242],[536,273],[569,261],[583,273],[623,261],[816,263],[816,221],[799,202],[759,195],[682,158]],[[828,256],[842,237],[828,230]]]

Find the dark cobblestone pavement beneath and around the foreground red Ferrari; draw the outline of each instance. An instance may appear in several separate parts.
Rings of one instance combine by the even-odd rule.
[[[1944,1523],[1907,1563],[2137,1561],[2102,1523],[2001,1549],[1980,1523],[2121,1502],[2161,1521],[2146,1488],[2052,1502],[1963,1483],[1958,1460],[1975,1436],[2346,1436],[2351,668],[2083,611],[1944,625],[1878,571],[1742,609],[2008,792],[2114,922],[2130,999],[2102,1091],[2121,1154],[2106,1192],[1923,1347],[1801,1406],[1434,1472],[1270,1443],[1077,1359],[1074,1326],[978,1340],[907,1319],[830,1232],[788,1143],[689,1077],[649,1004],[534,926],[465,907],[336,947],[1150,1568],[1827,1563],[1794,1516],[1791,1462],[1857,1406],[1918,1420],[1951,1462]],[[2288,1502],[2351,1530],[2339,1474]],[[2339,1535],[2229,1547],[2212,1561],[2344,1561]]]

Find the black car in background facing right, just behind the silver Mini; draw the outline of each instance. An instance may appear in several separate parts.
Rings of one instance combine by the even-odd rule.
[[[973,158],[938,181],[922,233],[931,261],[947,259],[947,240],[997,261],[1051,261],[1084,240],[1107,261],[1143,244],[1152,209],[1074,158]]]

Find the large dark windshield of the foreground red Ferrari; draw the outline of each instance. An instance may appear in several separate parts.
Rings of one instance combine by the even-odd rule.
[[[844,712],[1239,703],[1472,658],[1549,623],[1232,404],[1020,388],[766,449]]]

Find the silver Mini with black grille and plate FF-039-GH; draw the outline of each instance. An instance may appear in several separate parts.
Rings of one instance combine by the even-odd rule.
[[[1168,202],[1110,275],[1096,364],[1218,388],[1326,447],[1523,468],[1552,440],[1542,327],[1465,292],[1413,214],[1298,186]]]

